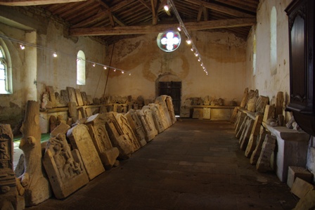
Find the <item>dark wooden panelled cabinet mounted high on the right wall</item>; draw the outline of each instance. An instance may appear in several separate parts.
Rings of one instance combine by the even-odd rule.
[[[293,0],[289,22],[290,103],[297,124],[315,136],[314,0]]]

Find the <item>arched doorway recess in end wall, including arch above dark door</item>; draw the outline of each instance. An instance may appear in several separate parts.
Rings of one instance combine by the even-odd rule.
[[[155,81],[155,95],[167,95],[172,97],[174,112],[176,115],[181,111],[181,78],[165,73],[161,74]]]

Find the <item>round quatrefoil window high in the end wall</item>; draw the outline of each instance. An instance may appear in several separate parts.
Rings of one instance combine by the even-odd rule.
[[[181,44],[181,35],[179,32],[163,32],[158,34],[156,41],[162,51],[172,52]]]

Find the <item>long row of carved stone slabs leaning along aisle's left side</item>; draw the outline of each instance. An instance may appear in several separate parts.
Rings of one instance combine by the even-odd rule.
[[[51,132],[42,159],[55,197],[68,197],[175,122],[172,98],[159,96],[141,110],[95,114],[72,128],[60,124]]]

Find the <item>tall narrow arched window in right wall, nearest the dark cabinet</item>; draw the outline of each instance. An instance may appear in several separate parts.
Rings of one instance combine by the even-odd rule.
[[[270,70],[277,73],[277,12],[273,6],[270,15]]]

